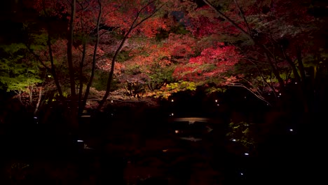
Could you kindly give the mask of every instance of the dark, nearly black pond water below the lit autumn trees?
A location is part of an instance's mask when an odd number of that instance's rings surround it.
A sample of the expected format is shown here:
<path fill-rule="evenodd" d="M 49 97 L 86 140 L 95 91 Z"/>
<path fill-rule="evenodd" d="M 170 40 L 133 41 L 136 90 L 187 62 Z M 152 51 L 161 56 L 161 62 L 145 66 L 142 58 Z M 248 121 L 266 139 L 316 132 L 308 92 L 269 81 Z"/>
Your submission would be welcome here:
<path fill-rule="evenodd" d="M 195 116 L 203 116 L 194 112 Z M 172 118 L 190 113 L 173 116 L 170 113 L 171 110 L 158 107 L 109 109 L 106 114 L 81 119 L 76 136 L 62 130 L 62 123 L 56 126 L 35 123 L 32 127 L 20 124 L 22 128 L 11 128 L 1 135 L 4 149 L 1 181 L 4 184 L 214 185 L 280 181 L 294 184 L 300 181 L 300 174 L 309 175 L 303 167 L 311 164 L 309 160 L 301 163 L 298 159 L 309 158 L 310 153 L 303 151 L 301 128 L 289 117 L 281 116 L 284 114 L 252 119 L 245 115 L 256 112 L 207 114 L 215 125 L 202 140 L 195 140 L 196 137 L 175 137 L 175 131 L 180 133 L 184 128 L 169 124 Z M 226 136 L 231 132 L 229 123 L 242 120 L 259 125 L 256 127 L 259 135 L 252 137 L 263 140 L 253 151 L 240 144 L 247 141 L 245 135 L 232 139 Z"/>

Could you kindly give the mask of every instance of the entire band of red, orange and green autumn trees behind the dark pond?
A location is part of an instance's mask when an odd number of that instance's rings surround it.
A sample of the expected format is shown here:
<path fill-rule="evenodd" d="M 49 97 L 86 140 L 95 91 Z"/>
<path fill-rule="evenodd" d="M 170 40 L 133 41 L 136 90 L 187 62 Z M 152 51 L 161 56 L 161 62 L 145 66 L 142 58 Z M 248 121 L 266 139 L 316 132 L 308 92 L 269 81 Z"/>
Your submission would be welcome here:
<path fill-rule="evenodd" d="M 6 7 L 1 89 L 35 114 L 53 100 L 69 100 L 78 116 L 102 109 L 111 95 L 158 99 L 231 86 L 295 111 L 327 102 L 323 1 L 34 0 Z"/>

